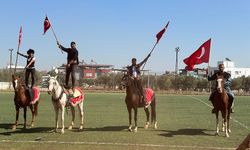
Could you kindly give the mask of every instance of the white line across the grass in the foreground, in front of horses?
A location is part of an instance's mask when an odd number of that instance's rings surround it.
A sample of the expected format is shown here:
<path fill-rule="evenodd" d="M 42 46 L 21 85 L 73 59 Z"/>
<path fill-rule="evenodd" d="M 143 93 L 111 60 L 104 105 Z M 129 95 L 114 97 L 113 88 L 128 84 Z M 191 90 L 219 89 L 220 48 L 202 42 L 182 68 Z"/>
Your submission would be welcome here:
<path fill-rule="evenodd" d="M 71 145 L 111 145 L 111 146 L 139 146 L 139 147 L 165 147 L 180 149 L 214 149 L 214 150 L 234 150 L 235 148 L 203 147 L 203 146 L 180 146 L 180 145 L 161 145 L 161 144 L 131 144 L 131 143 L 111 143 L 111 142 L 60 142 L 60 141 L 11 141 L 1 140 L 0 143 L 34 143 L 34 144 L 71 144 Z"/>

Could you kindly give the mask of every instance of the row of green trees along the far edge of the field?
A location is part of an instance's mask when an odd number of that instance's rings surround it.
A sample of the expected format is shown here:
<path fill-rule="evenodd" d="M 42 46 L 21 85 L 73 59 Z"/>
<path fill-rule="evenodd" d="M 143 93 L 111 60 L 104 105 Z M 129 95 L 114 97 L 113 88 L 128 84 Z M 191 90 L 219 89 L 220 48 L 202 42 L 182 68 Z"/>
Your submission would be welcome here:
<path fill-rule="evenodd" d="M 23 77 L 23 72 L 17 72 Z M 42 85 L 43 75 L 55 75 L 51 72 L 36 71 L 36 84 Z M 78 81 L 79 86 L 100 87 L 103 89 L 117 89 L 120 86 L 123 73 L 105 73 L 99 75 L 95 79 L 82 79 Z M 63 84 L 65 77 L 59 75 L 58 80 Z M 11 73 L 8 69 L 0 69 L 0 82 L 10 82 Z M 143 75 L 143 87 L 151 87 L 154 90 L 183 90 L 183 91 L 209 91 L 210 87 L 214 87 L 215 82 L 209 82 L 206 78 L 196 78 L 192 76 L 176 76 L 172 74 L 163 75 Z M 232 80 L 232 90 L 250 91 L 250 76 L 239 77 Z"/>

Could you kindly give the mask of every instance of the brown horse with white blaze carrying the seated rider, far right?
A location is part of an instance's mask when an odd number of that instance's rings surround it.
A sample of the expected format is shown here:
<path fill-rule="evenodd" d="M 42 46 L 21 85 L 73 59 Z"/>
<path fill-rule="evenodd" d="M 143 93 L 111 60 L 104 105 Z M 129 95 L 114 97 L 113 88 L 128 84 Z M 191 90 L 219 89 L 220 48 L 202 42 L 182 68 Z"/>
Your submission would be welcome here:
<path fill-rule="evenodd" d="M 219 135 L 219 111 L 221 111 L 223 117 L 222 131 L 225 131 L 225 136 L 229 137 L 231 132 L 229 128 L 229 119 L 230 119 L 230 104 L 227 92 L 224 89 L 224 77 L 223 75 L 217 76 L 217 90 L 215 91 L 214 99 L 212 100 L 215 115 L 216 115 L 216 133 Z"/>

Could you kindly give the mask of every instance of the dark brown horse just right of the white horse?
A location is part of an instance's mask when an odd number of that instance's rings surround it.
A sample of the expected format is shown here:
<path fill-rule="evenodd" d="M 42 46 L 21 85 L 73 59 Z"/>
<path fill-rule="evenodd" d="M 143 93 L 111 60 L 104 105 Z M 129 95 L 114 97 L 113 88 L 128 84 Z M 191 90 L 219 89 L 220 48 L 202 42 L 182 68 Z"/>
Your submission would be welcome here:
<path fill-rule="evenodd" d="M 125 102 L 127 105 L 127 110 L 129 113 L 129 131 L 132 131 L 132 123 L 131 123 L 131 119 L 132 119 L 132 109 L 134 110 L 134 121 L 135 121 L 135 128 L 134 128 L 134 132 L 137 132 L 137 108 L 138 107 L 144 107 L 144 110 L 146 112 L 146 117 L 147 117 L 147 121 L 146 121 L 146 125 L 145 125 L 145 129 L 147 129 L 149 127 L 149 116 L 150 116 L 150 112 L 148 107 L 145 107 L 143 105 L 140 105 L 139 100 L 140 100 L 140 96 L 138 93 L 138 90 L 136 88 L 135 85 L 135 81 L 134 79 L 127 75 L 124 74 L 123 78 L 122 78 L 122 87 L 126 87 L 126 98 L 125 98 Z M 152 97 L 151 97 L 151 123 L 154 124 L 154 128 L 157 128 L 157 122 L 156 122 L 156 98 L 155 98 L 155 94 L 153 93 Z"/>

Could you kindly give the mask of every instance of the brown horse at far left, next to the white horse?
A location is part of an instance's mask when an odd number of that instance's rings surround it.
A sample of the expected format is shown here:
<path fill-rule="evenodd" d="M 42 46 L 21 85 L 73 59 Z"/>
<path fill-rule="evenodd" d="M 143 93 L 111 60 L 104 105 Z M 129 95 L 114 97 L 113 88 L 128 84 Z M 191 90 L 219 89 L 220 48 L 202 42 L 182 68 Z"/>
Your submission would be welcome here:
<path fill-rule="evenodd" d="M 15 75 L 12 75 L 12 84 L 15 92 L 14 103 L 16 107 L 16 121 L 15 124 L 12 126 L 12 129 L 15 130 L 18 125 L 18 118 L 19 118 L 19 109 L 23 108 L 24 113 L 24 126 L 23 128 L 26 129 L 26 112 L 27 107 L 29 106 L 32 112 L 32 121 L 31 127 L 34 126 L 35 116 L 37 115 L 38 111 L 38 101 L 34 104 L 31 104 L 31 98 L 29 96 L 29 91 L 25 88 L 25 85 L 22 83 L 21 78 Z"/>

